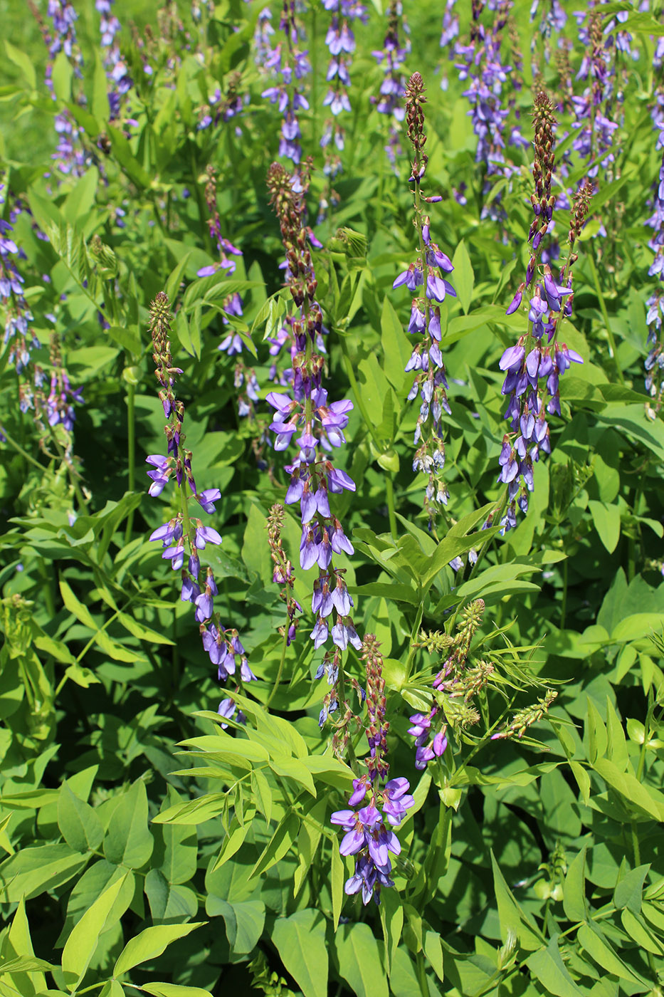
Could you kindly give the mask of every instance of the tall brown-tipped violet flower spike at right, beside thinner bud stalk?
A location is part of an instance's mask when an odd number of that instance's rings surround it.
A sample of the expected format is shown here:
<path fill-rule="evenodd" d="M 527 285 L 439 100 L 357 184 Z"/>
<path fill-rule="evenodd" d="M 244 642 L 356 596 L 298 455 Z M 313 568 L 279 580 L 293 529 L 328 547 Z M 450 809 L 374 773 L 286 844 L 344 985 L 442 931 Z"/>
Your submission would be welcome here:
<path fill-rule="evenodd" d="M 542 279 L 535 279 L 539 278 L 541 240 L 551 224 L 555 204 L 555 195 L 551 193 L 551 174 L 554 164 L 553 130 L 556 122 L 551 102 L 543 93 L 539 93 L 535 98 L 533 119 L 534 192 L 530 200 L 534 218 L 528 232 L 528 241 L 531 244 L 530 258 L 525 282 L 518 287 L 506 311 L 507 315 L 516 311 L 521 304 L 524 291 L 530 288 L 534 280 L 528 304 L 528 321 L 531 325 L 527 336 L 520 336 L 515 346 L 506 349 L 498 364 L 500 370 L 505 373 L 502 394 L 508 396 L 509 402 L 504 418 L 509 420 L 511 431 L 502 439 L 498 458 L 500 465 L 498 482 L 507 486 L 507 508 L 501 520 L 501 525 L 505 529 L 516 524 L 516 503 L 523 513 L 527 511 L 527 493 L 533 489 L 533 463 L 539 460 L 540 453 L 550 453 L 546 413 L 560 415 L 559 378 L 570 364 L 583 362 L 574 350 L 568 349 L 564 344 L 558 347 L 555 342 L 560 314 L 571 314 L 571 274 L 567 275 L 563 284 L 562 279 L 559 281 L 554 279 L 550 267 L 544 264 Z M 587 197 L 585 193 L 583 195 L 584 210 L 587 210 L 589 199 L 589 191 L 587 193 Z M 584 217 L 583 213 L 581 227 Z M 565 298 L 568 300 L 565 301 Z M 542 342 L 544 335 L 547 337 L 545 345 Z M 545 384 L 549 397 L 545 410 L 540 395 L 540 381 Z"/>

